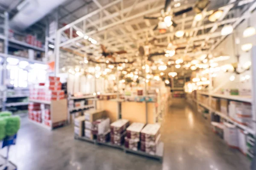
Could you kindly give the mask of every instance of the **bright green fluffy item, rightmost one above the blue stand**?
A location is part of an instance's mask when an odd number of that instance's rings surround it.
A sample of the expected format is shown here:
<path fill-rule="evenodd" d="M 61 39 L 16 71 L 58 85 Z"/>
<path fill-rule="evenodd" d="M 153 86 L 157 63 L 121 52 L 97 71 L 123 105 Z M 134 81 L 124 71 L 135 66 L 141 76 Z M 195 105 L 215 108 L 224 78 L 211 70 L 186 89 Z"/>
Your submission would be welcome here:
<path fill-rule="evenodd" d="M 6 136 L 15 135 L 20 129 L 20 116 L 6 117 Z"/>

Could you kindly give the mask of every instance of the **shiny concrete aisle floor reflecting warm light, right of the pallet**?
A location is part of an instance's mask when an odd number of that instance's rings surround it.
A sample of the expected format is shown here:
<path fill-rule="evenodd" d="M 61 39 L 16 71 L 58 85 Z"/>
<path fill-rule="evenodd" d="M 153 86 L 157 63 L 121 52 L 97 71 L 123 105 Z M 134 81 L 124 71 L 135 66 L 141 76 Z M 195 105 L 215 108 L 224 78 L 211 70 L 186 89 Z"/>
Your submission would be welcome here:
<path fill-rule="evenodd" d="M 174 103 L 163 125 L 163 170 L 249 170 L 250 161 L 210 129 L 209 120 L 184 101 Z"/>

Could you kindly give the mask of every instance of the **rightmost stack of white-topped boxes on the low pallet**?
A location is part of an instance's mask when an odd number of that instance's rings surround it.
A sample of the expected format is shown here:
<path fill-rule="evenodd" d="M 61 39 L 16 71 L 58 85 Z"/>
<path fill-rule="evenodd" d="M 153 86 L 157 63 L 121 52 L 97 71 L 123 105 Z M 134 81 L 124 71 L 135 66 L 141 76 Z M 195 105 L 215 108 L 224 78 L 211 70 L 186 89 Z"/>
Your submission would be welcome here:
<path fill-rule="evenodd" d="M 157 153 L 157 145 L 160 142 L 160 125 L 148 124 L 141 130 L 140 150 L 155 155 Z"/>

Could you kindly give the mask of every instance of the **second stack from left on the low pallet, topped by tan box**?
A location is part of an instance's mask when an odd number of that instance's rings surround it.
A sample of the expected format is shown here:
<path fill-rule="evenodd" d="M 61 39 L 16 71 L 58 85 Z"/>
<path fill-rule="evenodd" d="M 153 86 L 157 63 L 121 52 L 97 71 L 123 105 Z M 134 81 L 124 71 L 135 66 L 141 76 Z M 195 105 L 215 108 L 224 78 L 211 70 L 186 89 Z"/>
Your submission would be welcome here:
<path fill-rule="evenodd" d="M 102 118 L 105 117 L 105 111 L 104 110 L 87 110 L 84 111 L 84 125 L 85 130 L 84 134 L 85 137 L 89 139 L 95 139 L 98 134 L 98 131 L 94 131 L 95 134 L 93 134 L 93 128 L 96 128 L 96 124 L 102 121 Z M 96 126 L 96 127 L 95 127 Z"/>

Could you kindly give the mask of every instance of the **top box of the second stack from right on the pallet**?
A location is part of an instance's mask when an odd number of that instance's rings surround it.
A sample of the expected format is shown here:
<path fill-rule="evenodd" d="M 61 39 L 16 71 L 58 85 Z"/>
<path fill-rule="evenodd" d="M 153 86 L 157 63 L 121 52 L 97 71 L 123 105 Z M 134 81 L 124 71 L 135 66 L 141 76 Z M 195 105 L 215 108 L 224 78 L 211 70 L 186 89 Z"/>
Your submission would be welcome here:
<path fill-rule="evenodd" d="M 128 139 L 138 139 L 140 140 L 140 132 L 145 126 L 144 123 L 132 123 L 126 129 L 126 137 Z"/>

